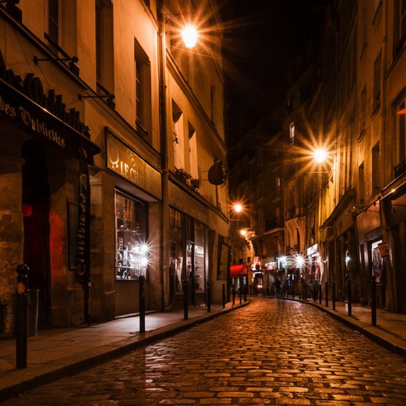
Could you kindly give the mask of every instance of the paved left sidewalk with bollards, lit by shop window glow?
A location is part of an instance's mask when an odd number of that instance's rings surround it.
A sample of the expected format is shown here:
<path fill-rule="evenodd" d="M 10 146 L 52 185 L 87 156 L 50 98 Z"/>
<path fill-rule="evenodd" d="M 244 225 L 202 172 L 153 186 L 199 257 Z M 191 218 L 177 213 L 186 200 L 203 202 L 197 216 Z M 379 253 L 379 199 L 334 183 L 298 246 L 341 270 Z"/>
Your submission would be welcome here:
<path fill-rule="evenodd" d="M 139 316 L 133 315 L 81 328 L 44 330 L 28 337 L 27 368 L 17 369 L 15 337 L 0 340 L 0 403 L 40 384 L 45 384 L 122 355 L 129 350 L 151 344 L 203 323 L 216 316 L 248 305 L 249 300 L 189 307 L 184 311 L 148 312 L 146 332 L 139 332 Z"/>

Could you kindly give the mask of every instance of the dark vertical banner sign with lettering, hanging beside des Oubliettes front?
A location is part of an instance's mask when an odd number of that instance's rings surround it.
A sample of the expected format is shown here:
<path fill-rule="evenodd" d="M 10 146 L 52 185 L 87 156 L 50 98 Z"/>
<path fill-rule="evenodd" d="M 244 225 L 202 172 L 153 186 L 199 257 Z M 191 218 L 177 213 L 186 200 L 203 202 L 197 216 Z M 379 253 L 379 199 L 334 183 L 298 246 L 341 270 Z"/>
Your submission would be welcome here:
<path fill-rule="evenodd" d="M 78 277 L 90 281 L 90 180 L 86 153 L 79 150 Z"/>

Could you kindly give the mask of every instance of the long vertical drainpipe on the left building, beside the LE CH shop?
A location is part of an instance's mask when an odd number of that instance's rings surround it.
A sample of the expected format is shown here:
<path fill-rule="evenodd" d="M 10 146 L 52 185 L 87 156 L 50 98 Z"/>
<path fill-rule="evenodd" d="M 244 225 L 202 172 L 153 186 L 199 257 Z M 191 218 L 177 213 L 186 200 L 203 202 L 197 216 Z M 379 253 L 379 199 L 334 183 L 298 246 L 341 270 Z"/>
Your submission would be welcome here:
<path fill-rule="evenodd" d="M 168 142 L 167 142 L 167 85 L 165 81 L 166 43 L 165 43 L 165 13 L 164 0 L 158 1 L 158 74 L 160 93 L 160 137 L 162 157 L 162 232 L 160 246 L 160 284 L 162 286 L 162 311 L 171 310 L 169 297 L 169 171 L 168 171 Z"/>

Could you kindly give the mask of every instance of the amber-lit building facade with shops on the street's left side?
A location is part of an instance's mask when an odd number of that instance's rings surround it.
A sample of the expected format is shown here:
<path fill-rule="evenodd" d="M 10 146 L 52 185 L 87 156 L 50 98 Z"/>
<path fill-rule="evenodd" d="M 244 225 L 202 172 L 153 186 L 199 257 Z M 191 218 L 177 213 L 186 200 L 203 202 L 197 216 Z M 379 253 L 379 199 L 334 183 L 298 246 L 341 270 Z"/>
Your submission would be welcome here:
<path fill-rule="evenodd" d="M 176 38 L 186 15 L 218 27 L 214 4 L 35 3 L 0 6 L 0 331 L 13 331 L 19 264 L 40 327 L 137 312 L 140 276 L 147 309 L 171 310 L 180 280 L 190 303 L 208 282 L 221 301 L 221 53 Z"/>

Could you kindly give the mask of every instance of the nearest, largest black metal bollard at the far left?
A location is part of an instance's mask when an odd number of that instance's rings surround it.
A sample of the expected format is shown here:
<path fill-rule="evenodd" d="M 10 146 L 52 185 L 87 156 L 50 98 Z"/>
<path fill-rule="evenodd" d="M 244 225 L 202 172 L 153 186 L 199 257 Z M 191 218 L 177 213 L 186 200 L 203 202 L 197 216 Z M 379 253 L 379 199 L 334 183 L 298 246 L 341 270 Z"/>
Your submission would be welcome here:
<path fill-rule="evenodd" d="M 15 291 L 15 367 L 27 367 L 27 285 L 28 285 L 28 271 L 30 269 L 26 264 L 20 264 L 17 267 L 17 288 Z"/>

